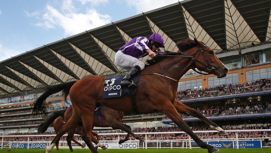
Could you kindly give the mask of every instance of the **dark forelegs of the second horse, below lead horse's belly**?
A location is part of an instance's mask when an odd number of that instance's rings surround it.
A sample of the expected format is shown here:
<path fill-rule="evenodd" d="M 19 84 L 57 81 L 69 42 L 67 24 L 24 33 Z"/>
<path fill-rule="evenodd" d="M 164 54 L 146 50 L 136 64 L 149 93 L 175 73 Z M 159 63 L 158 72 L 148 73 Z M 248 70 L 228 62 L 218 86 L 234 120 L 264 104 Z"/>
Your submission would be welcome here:
<path fill-rule="evenodd" d="M 143 140 L 141 137 L 139 137 L 138 135 L 134 134 L 134 133 L 132 132 L 132 130 L 131 130 L 131 127 L 128 126 L 128 125 L 122 124 L 122 123 L 120 123 L 120 122 L 118 122 L 118 121 L 113 121 L 112 124 L 110 124 L 110 126 L 111 126 L 113 129 L 121 129 L 121 130 L 127 132 L 127 135 L 126 135 L 125 139 L 122 140 L 122 141 L 120 140 L 120 141 L 118 142 L 119 144 L 121 144 L 121 143 L 123 143 L 123 142 L 125 142 L 125 141 L 127 141 L 127 140 L 129 139 L 129 136 L 130 136 L 129 133 L 130 133 L 134 138 L 138 139 L 140 143 L 145 142 L 145 140 Z M 126 140 L 126 139 L 127 139 L 127 140 Z"/>

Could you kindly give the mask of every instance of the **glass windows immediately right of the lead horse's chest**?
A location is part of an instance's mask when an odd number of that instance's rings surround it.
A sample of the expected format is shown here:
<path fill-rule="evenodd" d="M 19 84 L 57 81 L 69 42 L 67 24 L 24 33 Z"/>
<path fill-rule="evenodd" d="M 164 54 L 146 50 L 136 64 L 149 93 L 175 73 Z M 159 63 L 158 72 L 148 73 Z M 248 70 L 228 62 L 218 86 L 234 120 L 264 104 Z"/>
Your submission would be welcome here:
<path fill-rule="evenodd" d="M 181 81 L 178 85 L 178 91 L 190 90 L 190 89 L 202 89 L 202 79 Z"/>

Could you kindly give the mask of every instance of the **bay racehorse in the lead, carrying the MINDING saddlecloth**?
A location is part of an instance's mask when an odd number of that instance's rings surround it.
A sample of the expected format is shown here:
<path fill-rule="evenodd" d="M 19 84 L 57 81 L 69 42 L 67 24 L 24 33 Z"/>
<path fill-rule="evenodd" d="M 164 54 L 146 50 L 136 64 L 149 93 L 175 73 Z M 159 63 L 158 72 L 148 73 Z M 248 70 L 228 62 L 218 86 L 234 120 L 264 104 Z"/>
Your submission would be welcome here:
<path fill-rule="evenodd" d="M 167 115 L 176 125 L 192 137 L 201 148 L 208 149 L 208 152 L 217 152 L 219 149 L 205 144 L 190 129 L 180 117 L 178 112 L 190 114 L 206 122 L 212 129 L 219 131 L 219 134 L 227 134 L 217 124 L 208 120 L 200 112 L 176 100 L 178 80 L 189 70 L 197 68 L 209 74 L 215 74 L 218 78 L 225 77 L 228 69 L 217 58 L 214 51 L 201 41 L 196 39 L 185 39 L 177 42 L 180 51 L 169 52 L 163 56 L 156 56 L 148 60 L 141 72 L 136 93 L 136 106 L 138 113 L 147 114 L 162 112 Z M 182 52 L 181 52 L 182 51 Z M 184 56 L 181 56 L 184 55 Z M 180 58 L 187 57 L 187 58 Z M 192 59 L 191 59 L 192 58 Z M 83 122 L 83 135 L 85 142 L 92 152 L 98 152 L 91 143 L 91 128 L 96 104 L 100 104 L 115 110 L 134 112 L 131 99 L 128 96 L 117 98 L 103 98 L 104 76 L 87 76 L 77 81 L 70 89 L 70 100 L 73 104 L 73 115 L 69 121 L 61 127 L 51 144 L 46 148 L 50 152 L 56 142 L 65 132 L 75 127 L 79 121 Z M 44 111 L 42 102 L 35 102 L 34 112 Z"/>

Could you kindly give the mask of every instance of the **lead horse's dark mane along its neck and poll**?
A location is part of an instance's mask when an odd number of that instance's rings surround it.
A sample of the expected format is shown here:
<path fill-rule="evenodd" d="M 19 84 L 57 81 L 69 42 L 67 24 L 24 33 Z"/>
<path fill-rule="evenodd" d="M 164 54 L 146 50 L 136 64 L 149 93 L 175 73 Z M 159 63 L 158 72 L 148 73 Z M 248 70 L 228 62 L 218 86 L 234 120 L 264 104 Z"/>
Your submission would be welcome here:
<path fill-rule="evenodd" d="M 181 39 L 180 41 L 178 41 L 176 43 L 176 46 L 178 47 L 178 49 L 180 51 L 186 51 L 190 48 L 196 47 L 197 44 L 195 43 L 194 40 L 190 39 L 190 38 L 186 38 L 186 39 Z M 172 55 L 172 56 L 178 56 L 180 55 L 180 53 L 178 52 L 171 52 L 171 51 L 165 51 L 165 53 L 163 55 Z M 165 59 L 166 57 L 163 56 L 155 56 L 152 59 L 149 59 L 146 61 L 146 66 L 151 66 L 163 59 Z"/>

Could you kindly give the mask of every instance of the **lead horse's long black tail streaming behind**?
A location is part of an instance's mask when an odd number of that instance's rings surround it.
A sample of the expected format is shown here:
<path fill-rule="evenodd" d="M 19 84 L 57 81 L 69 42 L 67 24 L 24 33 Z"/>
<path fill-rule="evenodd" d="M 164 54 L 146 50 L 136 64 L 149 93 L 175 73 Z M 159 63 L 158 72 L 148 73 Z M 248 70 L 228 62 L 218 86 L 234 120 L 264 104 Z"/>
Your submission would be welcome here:
<path fill-rule="evenodd" d="M 71 89 L 71 87 L 76 83 L 77 81 L 71 81 L 71 82 L 67 82 L 67 83 L 63 83 L 60 85 L 55 85 L 52 87 L 45 87 L 44 89 L 46 90 L 42 95 L 40 95 L 40 97 L 34 101 L 34 103 L 32 104 L 33 107 L 33 111 L 32 113 L 47 113 L 46 107 L 44 107 L 42 104 L 43 102 L 46 100 L 47 97 L 49 97 L 50 95 L 57 93 L 59 91 L 63 90 L 63 94 L 65 95 L 65 101 L 67 99 L 67 96 L 69 94 L 69 91 Z"/>

